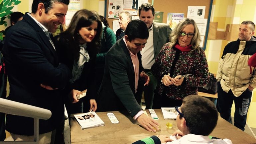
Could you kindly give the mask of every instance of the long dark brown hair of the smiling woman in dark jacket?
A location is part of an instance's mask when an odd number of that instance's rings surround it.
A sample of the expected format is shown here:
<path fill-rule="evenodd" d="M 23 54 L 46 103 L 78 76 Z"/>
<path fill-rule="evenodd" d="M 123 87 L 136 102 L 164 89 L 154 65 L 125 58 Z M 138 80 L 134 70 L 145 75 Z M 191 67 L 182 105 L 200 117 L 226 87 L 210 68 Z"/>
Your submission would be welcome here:
<path fill-rule="evenodd" d="M 71 19 L 71 22 L 61 35 L 69 35 L 70 39 L 67 39 L 67 41 L 74 41 L 75 45 L 79 45 L 79 40 L 81 39 L 81 36 L 79 34 L 79 30 L 83 27 L 89 27 L 94 22 L 98 23 L 97 26 L 97 33 L 94 36 L 93 40 L 91 42 L 87 43 L 87 50 L 93 51 L 93 53 L 97 52 L 97 49 L 100 47 L 100 38 L 101 38 L 101 31 L 102 31 L 102 24 L 100 21 L 100 18 L 98 15 L 92 13 L 89 10 L 81 9 L 77 11 L 74 16 Z M 71 39 L 72 38 L 72 39 Z M 74 48 L 74 54 L 75 59 L 78 58 L 80 47 L 77 46 Z"/>

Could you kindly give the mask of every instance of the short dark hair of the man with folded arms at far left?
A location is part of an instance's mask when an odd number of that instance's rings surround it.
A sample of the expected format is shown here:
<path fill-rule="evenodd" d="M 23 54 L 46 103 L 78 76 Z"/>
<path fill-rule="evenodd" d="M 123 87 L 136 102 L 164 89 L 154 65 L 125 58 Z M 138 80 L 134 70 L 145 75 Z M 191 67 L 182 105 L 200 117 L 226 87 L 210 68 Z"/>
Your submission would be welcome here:
<path fill-rule="evenodd" d="M 48 11 L 50 9 L 52 9 L 53 7 L 53 3 L 56 3 L 56 2 L 59 2 L 59 3 L 64 3 L 66 5 L 69 4 L 69 0 L 33 0 L 33 3 L 32 3 L 32 13 L 36 13 L 37 12 L 37 7 L 38 7 L 38 4 L 39 3 L 43 3 L 44 6 L 45 6 L 45 13 L 48 13 Z"/>

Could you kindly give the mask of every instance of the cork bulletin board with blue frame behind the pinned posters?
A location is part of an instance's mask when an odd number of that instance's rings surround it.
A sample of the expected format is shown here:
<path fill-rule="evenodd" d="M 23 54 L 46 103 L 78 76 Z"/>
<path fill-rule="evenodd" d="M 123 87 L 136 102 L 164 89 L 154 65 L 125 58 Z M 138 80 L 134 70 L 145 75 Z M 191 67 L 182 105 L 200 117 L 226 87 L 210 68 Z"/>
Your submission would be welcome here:
<path fill-rule="evenodd" d="M 207 19 L 206 33 L 203 40 L 204 41 L 203 49 L 205 49 L 208 29 L 209 29 L 208 27 L 210 22 L 212 1 L 213 0 L 153 0 L 153 5 L 155 8 L 155 11 L 164 12 L 163 23 L 167 22 L 168 13 L 184 13 L 184 17 L 187 18 L 188 6 L 205 6 L 204 18 Z M 148 0 L 148 2 L 152 3 L 152 0 Z M 105 1 L 105 17 L 106 18 L 107 18 L 107 12 L 108 12 L 108 0 Z M 139 16 L 139 12 L 138 12 L 138 16 Z M 117 20 L 117 19 L 107 18 L 107 20 L 110 28 L 112 29 L 112 22 L 113 20 Z"/>

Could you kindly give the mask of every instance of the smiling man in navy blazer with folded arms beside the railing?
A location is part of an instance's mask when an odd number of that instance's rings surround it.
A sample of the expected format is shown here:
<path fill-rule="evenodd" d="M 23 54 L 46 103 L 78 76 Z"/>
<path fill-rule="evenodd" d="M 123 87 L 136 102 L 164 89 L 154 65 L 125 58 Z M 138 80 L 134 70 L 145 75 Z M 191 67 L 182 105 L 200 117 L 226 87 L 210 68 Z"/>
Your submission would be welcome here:
<path fill-rule="evenodd" d="M 52 36 L 58 25 L 64 24 L 68 4 L 69 0 L 34 0 L 32 13 L 26 13 L 8 30 L 3 47 L 10 83 L 8 99 L 51 110 L 50 119 L 39 120 L 39 139 L 50 135 L 50 141 L 55 130 L 63 126 L 64 98 L 60 91 L 71 78 L 68 67 L 59 63 Z M 33 140 L 33 125 L 32 118 L 6 116 L 6 130 L 12 138 L 28 140 L 31 136 Z"/>

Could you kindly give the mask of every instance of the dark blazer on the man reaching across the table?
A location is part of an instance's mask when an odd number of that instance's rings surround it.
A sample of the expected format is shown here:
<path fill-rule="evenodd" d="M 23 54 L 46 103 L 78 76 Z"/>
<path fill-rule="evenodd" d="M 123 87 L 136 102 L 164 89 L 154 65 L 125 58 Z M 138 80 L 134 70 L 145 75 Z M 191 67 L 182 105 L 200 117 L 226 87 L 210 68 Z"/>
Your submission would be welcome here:
<path fill-rule="evenodd" d="M 139 73 L 143 70 L 141 54 Z M 144 82 L 145 83 L 145 82 Z M 143 80 L 139 79 L 135 94 L 135 75 L 132 59 L 123 39 L 119 39 L 106 55 L 105 72 L 97 98 L 98 111 L 120 111 L 127 109 L 131 116 L 136 115 L 141 106 L 138 104 Z"/>

